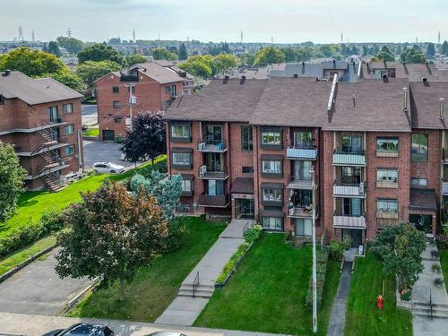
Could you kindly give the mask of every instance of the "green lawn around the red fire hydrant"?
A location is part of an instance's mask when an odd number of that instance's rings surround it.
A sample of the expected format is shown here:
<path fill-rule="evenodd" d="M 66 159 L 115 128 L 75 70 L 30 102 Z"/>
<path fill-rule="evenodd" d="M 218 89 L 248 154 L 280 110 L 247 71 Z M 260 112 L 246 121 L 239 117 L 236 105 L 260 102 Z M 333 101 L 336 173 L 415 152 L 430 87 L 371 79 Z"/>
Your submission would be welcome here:
<path fill-rule="evenodd" d="M 395 306 L 395 281 L 388 277 L 384 289 L 384 309 L 376 308 L 376 297 L 382 293 L 381 264 L 369 254 L 358 258 L 351 278 L 345 316 L 345 336 L 412 335 L 412 315 Z"/>

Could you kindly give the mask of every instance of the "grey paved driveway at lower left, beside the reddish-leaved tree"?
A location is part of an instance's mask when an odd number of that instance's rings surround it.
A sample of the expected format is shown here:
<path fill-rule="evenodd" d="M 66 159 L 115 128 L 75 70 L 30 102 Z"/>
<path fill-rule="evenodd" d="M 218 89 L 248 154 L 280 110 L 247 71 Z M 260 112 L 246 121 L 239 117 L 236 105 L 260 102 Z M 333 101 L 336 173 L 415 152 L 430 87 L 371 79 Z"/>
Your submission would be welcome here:
<path fill-rule="evenodd" d="M 0 284 L 0 312 L 56 315 L 90 285 L 87 279 L 59 279 L 54 268 L 56 251 Z"/>

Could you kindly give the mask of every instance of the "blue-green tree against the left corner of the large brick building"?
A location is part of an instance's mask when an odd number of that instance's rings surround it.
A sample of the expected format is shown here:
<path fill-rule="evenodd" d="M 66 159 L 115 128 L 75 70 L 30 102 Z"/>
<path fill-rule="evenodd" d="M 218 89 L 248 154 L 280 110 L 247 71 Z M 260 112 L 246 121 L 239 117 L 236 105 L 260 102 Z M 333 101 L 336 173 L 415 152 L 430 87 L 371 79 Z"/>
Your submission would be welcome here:
<path fill-rule="evenodd" d="M 135 174 L 129 181 L 129 189 L 134 196 L 139 194 L 142 189 L 146 194 L 154 195 L 165 213 L 165 218 L 173 220 L 173 210 L 180 204 L 182 177 L 179 174 L 168 177 L 167 174 L 151 170 L 148 177 Z"/>

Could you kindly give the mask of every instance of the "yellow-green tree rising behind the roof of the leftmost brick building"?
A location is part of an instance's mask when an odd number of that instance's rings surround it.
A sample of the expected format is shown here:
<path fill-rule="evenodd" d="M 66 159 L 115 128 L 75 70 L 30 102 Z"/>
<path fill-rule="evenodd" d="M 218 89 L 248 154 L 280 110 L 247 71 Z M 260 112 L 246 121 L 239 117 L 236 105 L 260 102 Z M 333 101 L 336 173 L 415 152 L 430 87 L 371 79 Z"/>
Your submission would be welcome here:
<path fill-rule="evenodd" d="M 31 77 L 60 73 L 68 67 L 56 56 L 28 47 L 19 47 L 0 57 L 0 71 L 20 71 Z"/>

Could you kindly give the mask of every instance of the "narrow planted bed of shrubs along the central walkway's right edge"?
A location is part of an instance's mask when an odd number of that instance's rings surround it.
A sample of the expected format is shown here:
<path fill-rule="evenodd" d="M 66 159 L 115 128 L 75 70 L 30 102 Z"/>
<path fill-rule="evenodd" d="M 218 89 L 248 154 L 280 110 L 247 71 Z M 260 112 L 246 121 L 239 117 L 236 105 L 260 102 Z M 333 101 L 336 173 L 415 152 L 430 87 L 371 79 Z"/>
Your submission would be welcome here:
<path fill-rule="evenodd" d="M 222 269 L 220 276 L 215 281 L 215 287 L 223 287 L 234 271 L 237 270 L 239 263 L 244 259 L 247 251 L 254 245 L 258 238 L 262 235 L 263 227 L 255 224 L 252 228 L 248 228 L 245 232 L 245 242 L 238 246 L 237 252 L 230 257 L 230 260 Z"/>

